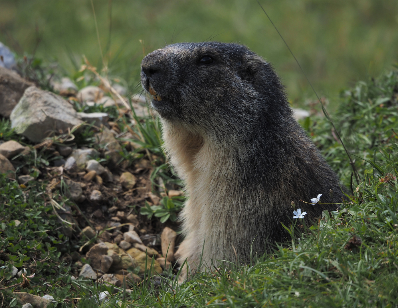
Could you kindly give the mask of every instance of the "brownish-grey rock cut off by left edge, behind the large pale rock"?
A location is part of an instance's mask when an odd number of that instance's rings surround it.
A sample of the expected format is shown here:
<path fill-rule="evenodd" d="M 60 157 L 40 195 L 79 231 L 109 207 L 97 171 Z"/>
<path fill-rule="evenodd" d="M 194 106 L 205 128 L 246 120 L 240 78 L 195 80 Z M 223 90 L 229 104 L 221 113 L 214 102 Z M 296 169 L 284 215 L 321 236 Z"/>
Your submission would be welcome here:
<path fill-rule="evenodd" d="M 0 61 L 0 115 L 8 118 L 23 92 L 33 83 L 21 78 L 16 72 L 1 67 L 1 63 Z"/>

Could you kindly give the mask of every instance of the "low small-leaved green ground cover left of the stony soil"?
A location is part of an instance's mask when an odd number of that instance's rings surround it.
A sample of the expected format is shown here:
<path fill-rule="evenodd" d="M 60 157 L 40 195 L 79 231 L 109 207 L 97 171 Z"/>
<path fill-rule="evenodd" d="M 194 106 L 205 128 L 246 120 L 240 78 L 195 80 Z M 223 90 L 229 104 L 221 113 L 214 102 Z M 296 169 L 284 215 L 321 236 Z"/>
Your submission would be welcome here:
<path fill-rule="evenodd" d="M 64 225 L 45 196 L 45 186 L 38 182 L 31 181 L 22 189 L 16 181 L 0 175 L 0 277 L 8 281 L 13 266 L 25 268 L 27 275 L 36 274 L 31 286 L 21 292 L 46 292 L 62 298 L 70 295 L 71 286 L 65 282 L 70 277 L 70 264 L 60 258 L 70 244 L 62 232 Z M 57 285 L 63 287 L 58 289 Z"/>

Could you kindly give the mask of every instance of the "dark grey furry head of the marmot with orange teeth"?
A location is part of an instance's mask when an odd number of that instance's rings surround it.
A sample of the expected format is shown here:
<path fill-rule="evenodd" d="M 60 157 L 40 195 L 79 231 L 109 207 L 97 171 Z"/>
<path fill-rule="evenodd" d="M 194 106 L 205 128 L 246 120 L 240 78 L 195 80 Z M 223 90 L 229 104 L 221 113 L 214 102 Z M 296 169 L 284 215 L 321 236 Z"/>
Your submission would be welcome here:
<path fill-rule="evenodd" d="M 144 57 L 141 83 L 162 118 L 194 130 L 230 131 L 264 116 L 275 120 L 281 109 L 290 114 L 271 65 L 243 45 L 168 45 Z"/>

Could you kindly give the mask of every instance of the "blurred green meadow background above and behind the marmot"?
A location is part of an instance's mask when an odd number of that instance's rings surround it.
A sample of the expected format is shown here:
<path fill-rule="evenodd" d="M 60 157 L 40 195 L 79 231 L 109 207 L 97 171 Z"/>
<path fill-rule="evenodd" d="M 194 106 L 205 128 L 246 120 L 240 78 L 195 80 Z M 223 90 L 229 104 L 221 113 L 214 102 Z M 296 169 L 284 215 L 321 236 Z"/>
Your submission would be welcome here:
<path fill-rule="evenodd" d="M 273 63 L 293 105 L 313 99 L 256 0 L 93 0 L 111 74 L 139 82 L 144 54 L 181 41 L 238 42 Z M 397 0 L 260 0 L 330 108 L 339 90 L 398 60 Z M 142 43 L 140 43 L 140 40 Z M 101 68 L 90 0 L 0 0 L 0 41 L 57 60 L 72 74 L 86 55 Z"/>

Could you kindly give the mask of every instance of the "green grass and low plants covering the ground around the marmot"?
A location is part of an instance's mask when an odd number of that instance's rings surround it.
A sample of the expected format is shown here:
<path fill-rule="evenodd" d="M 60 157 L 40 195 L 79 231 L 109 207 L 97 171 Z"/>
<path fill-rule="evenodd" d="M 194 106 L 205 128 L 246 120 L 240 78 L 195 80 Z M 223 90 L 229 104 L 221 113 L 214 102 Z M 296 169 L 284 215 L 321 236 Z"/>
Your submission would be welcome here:
<path fill-rule="evenodd" d="M 68 258 L 62 257 L 84 242 L 65 237 L 64 225 L 57 220 L 45 192 L 46 182 L 31 181 L 26 188 L 21 188 L 2 176 L 0 280 L 4 277 L 2 284 L 6 286 L 21 282 L 21 278 L 7 281 L 13 264 L 27 268 L 28 274 L 35 271 L 31 286 L 24 291 L 51 294 L 58 300 L 52 304 L 56 307 L 113 307 L 118 300 L 122 307 L 396 307 L 397 107 L 397 70 L 358 82 L 341 93 L 340 107 L 332 118 L 355 158 L 358 183 L 355 176 L 351 176 L 348 158 L 334 138 L 330 123 L 324 117 L 315 116 L 302 121 L 342 182 L 352 187 L 349 201 L 341 205 L 339 211 L 325 211 L 317 224 L 311 225 L 305 217 L 296 220 L 291 228 L 294 227 L 297 236 L 289 245 L 275 247 L 268 255 L 253 254 L 250 264 L 225 262 L 219 269 L 196 273 L 182 285 L 175 283 L 172 273 L 166 273 L 158 286 L 145 276 L 144 282 L 131 292 L 72 280 L 76 269 Z M 122 127 L 127 120 L 119 118 L 117 123 Z M 165 167 L 159 148 L 158 124 L 150 119 L 140 122 L 142 144 L 158 156 L 155 162 L 158 173 L 154 173 L 152 179 L 162 176 L 168 183 L 169 177 L 169 183 L 173 183 L 176 180 L 172 170 Z M 3 121 L 1 125 L 0 133 L 8 136 L 5 138 L 14 137 L 8 122 Z M 81 135 L 84 135 L 81 142 L 90 142 L 90 131 Z M 52 159 L 46 153 L 32 149 L 21 164 L 45 166 Z M 135 154 L 132 161 L 141 155 L 138 151 Z M 68 205 L 62 195 L 55 194 L 53 198 L 60 205 L 65 202 Z M 149 215 L 149 209 L 146 210 Z M 159 209 L 150 210 L 156 216 Z M 161 214 L 165 212 L 161 211 L 159 217 L 164 216 Z M 21 224 L 16 226 L 16 220 Z M 2 290 L 4 306 L 18 304 L 15 300 L 12 302 L 10 294 L 15 289 Z M 104 290 L 114 292 L 109 302 L 98 304 L 90 298 L 98 297 Z"/>

